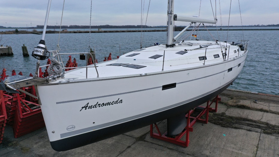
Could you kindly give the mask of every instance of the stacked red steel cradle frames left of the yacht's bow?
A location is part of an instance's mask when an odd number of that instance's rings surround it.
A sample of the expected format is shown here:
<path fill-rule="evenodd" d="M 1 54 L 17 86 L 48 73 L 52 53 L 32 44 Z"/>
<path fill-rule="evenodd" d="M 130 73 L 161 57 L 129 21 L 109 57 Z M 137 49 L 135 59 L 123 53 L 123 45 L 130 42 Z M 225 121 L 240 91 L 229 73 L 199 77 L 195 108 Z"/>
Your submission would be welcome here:
<path fill-rule="evenodd" d="M 20 72 L 19 74 L 22 73 Z M 40 74 L 42 75 L 43 73 L 40 72 Z M 12 75 L 16 75 L 16 72 L 13 71 Z M 4 80 L 5 77 L 7 77 L 6 69 L 3 69 L 0 79 Z M 0 93 L 1 139 L 4 134 L 5 124 L 13 128 L 13 135 L 15 138 L 45 126 L 41 107 L 36 99 L 34 86 L 21 89 L 34 95 L 35 98 L 25 93 L 12 94 L 4 91 Z"/>

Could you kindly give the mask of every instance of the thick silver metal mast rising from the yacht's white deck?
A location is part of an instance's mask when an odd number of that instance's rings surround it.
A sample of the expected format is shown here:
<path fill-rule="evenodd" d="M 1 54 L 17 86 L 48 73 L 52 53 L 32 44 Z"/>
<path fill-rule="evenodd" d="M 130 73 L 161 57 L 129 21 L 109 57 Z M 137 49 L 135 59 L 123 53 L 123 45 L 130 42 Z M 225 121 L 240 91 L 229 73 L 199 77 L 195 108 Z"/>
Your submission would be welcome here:
<path fill-rule="evenodd" d="M 173 47 L 174 43 L 174 0 L 168 0 L 168 28 L 166 47 Z"/>

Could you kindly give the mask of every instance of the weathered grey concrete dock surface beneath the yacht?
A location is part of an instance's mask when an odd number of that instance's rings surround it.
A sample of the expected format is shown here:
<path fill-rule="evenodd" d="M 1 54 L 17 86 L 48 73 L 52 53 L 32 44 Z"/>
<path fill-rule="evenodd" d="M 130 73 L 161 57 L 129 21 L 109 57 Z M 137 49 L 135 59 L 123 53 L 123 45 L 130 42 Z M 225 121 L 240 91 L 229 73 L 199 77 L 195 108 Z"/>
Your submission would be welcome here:
<path fill-rule="evenodd" d="M 225 90 L 219 97 L 218 110 L 209 113 L 209 123 L 194 124 L 188 147 L 151 138 L 150 126 L 146 126 L 83 147 L 57 152 L 50 146 L 45 127 L 14 138 L 12 128 L 6 126 L 0 156 L 279 157 L 279 96 Z M 164 133 L 166 120 L 157 124 Z"/>

